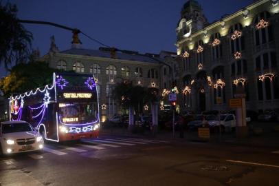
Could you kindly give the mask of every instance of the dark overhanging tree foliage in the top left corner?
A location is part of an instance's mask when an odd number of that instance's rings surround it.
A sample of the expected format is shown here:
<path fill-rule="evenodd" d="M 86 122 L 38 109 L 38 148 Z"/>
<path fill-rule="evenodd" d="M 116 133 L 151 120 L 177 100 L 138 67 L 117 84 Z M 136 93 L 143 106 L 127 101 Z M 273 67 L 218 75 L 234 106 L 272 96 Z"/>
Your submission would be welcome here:
<path fill-rule="evenodd" d="M 8 65 L 24 63 L 30 55 L 32 33 L 25 30 L 16 18 L 16 5 L 0 1 L 0 63 Z"/>

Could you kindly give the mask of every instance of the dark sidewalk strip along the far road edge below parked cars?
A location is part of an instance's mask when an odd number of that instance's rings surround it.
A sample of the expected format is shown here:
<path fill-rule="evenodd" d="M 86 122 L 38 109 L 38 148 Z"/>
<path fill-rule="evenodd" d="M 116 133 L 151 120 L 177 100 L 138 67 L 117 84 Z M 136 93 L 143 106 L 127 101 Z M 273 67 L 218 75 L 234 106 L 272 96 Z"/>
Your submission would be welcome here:
<path fill-rule="evenodd" d="M 102 129 L 100 131 L 100 136 L 110 135 L 110 136 L 128 136 L 135 138 L 157 138 L 157 139 L 169 139 L 169 140 L 179 140 L 179 141 L 192 141 L 192 142 L 205 142 L 205 143 L 225 143 L 230 145 L 242 145 L 249 147 L 278 147 L 279 148 L 279 133 L 270 132 L 261 135 L 252 135 L 245 138 L 236 138 L 235 134 L 221 134 L 221 140 L 219 134 L 211 134 L 210 139 L 199 138 L 197 132 L 184 132 L 184 137 L 179 138 L 179 132 L 175 132 L 175 137 L 171 131 L 159 131 L 156 134 L 153 132 L 145 131 L 140 134 L 133 134 L 129 132 L 126 128 L 109 128 Z"/>

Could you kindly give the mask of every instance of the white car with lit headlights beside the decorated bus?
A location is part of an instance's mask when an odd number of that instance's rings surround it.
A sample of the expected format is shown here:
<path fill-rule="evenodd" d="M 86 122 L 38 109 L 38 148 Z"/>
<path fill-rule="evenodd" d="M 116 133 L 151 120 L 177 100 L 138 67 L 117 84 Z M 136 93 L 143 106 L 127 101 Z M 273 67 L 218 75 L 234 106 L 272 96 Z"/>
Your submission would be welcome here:
<path fill-rule="evenodd" d="M 0 123 L 0 154 L 43 149 L 43 136 L 25 121 Z"/>

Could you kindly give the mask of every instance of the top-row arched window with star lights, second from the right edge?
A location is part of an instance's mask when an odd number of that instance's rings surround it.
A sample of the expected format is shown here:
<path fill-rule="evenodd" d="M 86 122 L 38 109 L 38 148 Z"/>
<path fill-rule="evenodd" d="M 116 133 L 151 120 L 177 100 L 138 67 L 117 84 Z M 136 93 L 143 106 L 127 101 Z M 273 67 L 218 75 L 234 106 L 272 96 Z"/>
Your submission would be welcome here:
<path fill-rule="evenodd" d="M 232 54 L 245 50 L 245 42 L 242 28 L 243 27 L 240 23 L 232 25 L 232 27 L 230 28 L 230 44 Z"/>

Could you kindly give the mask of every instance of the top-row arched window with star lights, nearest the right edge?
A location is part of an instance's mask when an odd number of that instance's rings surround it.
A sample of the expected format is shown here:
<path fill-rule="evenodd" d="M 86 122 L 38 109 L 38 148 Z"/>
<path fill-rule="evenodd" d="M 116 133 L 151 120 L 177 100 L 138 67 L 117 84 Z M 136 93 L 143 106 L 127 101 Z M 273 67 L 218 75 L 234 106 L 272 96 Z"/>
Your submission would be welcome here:
<path fill-rule="evenodd" d="M 269 23 L 269 12 L 261 12 L 255 17 L 255 43 L 262 45 L 274 39 L 272 28 Z"/>

